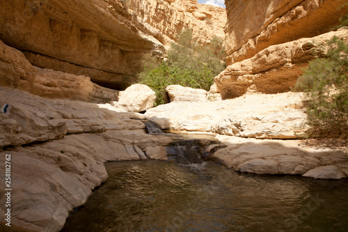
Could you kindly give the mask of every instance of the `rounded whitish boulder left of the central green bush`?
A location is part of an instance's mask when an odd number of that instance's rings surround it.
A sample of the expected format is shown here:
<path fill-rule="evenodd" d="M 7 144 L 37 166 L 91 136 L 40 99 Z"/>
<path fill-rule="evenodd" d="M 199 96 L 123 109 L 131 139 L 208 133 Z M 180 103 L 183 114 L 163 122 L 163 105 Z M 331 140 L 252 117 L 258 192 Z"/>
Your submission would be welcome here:
<path fill-rule="evenodd" d="M 156 93 L 145 84 L 132 84 L 118 95 L 118 102 L 113 105 L 129 112 L 141 112 L 153 107 Z"/>

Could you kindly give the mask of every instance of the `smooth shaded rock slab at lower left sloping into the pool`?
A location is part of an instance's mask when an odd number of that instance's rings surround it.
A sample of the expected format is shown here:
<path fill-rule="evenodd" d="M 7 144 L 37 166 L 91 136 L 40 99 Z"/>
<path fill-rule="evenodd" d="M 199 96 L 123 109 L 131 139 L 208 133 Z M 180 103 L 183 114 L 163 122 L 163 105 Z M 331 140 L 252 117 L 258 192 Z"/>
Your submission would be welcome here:
<path fill-rule="evenodd" d="M 16 199 L 11 207 L 13 224 L 32 231 L 59 231 L 69 211 L 84 204 L 92 190 L 106 180 L 104 162 L 145 160 L 143 150 L 165 150 L 171 142 L 143 130 L 109 130 L 68 134 L 63 139 L 11 149 L 15 164 L 12 197 Z M 0 162 L 4 163 L 8 153 L 0 152 Z M 0 167 L 0 173 L 5 173 L 3 169 Z M 4 205 L 0 206 L 0 212 L 3 209 Z"/>

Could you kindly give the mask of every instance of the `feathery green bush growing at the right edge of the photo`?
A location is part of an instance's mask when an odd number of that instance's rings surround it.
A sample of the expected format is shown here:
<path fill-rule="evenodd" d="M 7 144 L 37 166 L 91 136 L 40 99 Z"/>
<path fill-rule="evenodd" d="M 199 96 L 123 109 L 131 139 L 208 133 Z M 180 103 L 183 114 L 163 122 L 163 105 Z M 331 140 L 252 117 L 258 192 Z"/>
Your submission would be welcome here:
<path fill-rule="evenodd" d="M 296 82 L 306 93 L 311 137 L 348 137 L 348 44 L 337 37 L 328 42 L 325 58 L 310 62 Z"/>

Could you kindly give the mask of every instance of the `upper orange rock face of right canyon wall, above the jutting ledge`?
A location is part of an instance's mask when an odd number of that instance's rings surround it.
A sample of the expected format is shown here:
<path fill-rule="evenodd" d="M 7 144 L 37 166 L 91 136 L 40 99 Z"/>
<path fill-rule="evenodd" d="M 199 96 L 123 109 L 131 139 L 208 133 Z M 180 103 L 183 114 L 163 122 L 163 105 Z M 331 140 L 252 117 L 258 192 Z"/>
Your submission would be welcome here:
<path fill-rule="evenodd" d="M 249 59 L 262 49 L 326 33 L 347 8 L 340 0 L 226 0 L 227 65 Z"/>

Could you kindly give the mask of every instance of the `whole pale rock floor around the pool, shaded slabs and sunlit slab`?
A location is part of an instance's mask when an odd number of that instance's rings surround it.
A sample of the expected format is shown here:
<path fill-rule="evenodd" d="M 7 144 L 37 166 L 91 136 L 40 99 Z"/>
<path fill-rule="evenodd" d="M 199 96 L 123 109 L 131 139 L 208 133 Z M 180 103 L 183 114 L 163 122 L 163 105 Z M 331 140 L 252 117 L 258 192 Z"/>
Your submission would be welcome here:
<path fill-rule="evenodd" d="M 172 102 L 145 115 L 108 104 L 47 100 L 11 88 L 0 88 L 0 95 L 0 105 L 8 105 L 0 113 L 0 153 L 1 163 L 11 155 L 11 223 L 31 231 L 62 229 L 69 212 L 107 180 L 106 162 L 178 160 L 187 142 L 175 145 L 173 135 L 146 134 L 146 118 L 165 130 L 210 134 L 194 136 L 191 155 L 223 164 L 223 169 L 348 176 L 345 150 L 313 148 L 295 139 L 306 127 L 301 98 L 294 93 Z M 0 171 L 4 179 L 4 166 Z M 5 210 L 1 205 L 0 212 Z"/>

